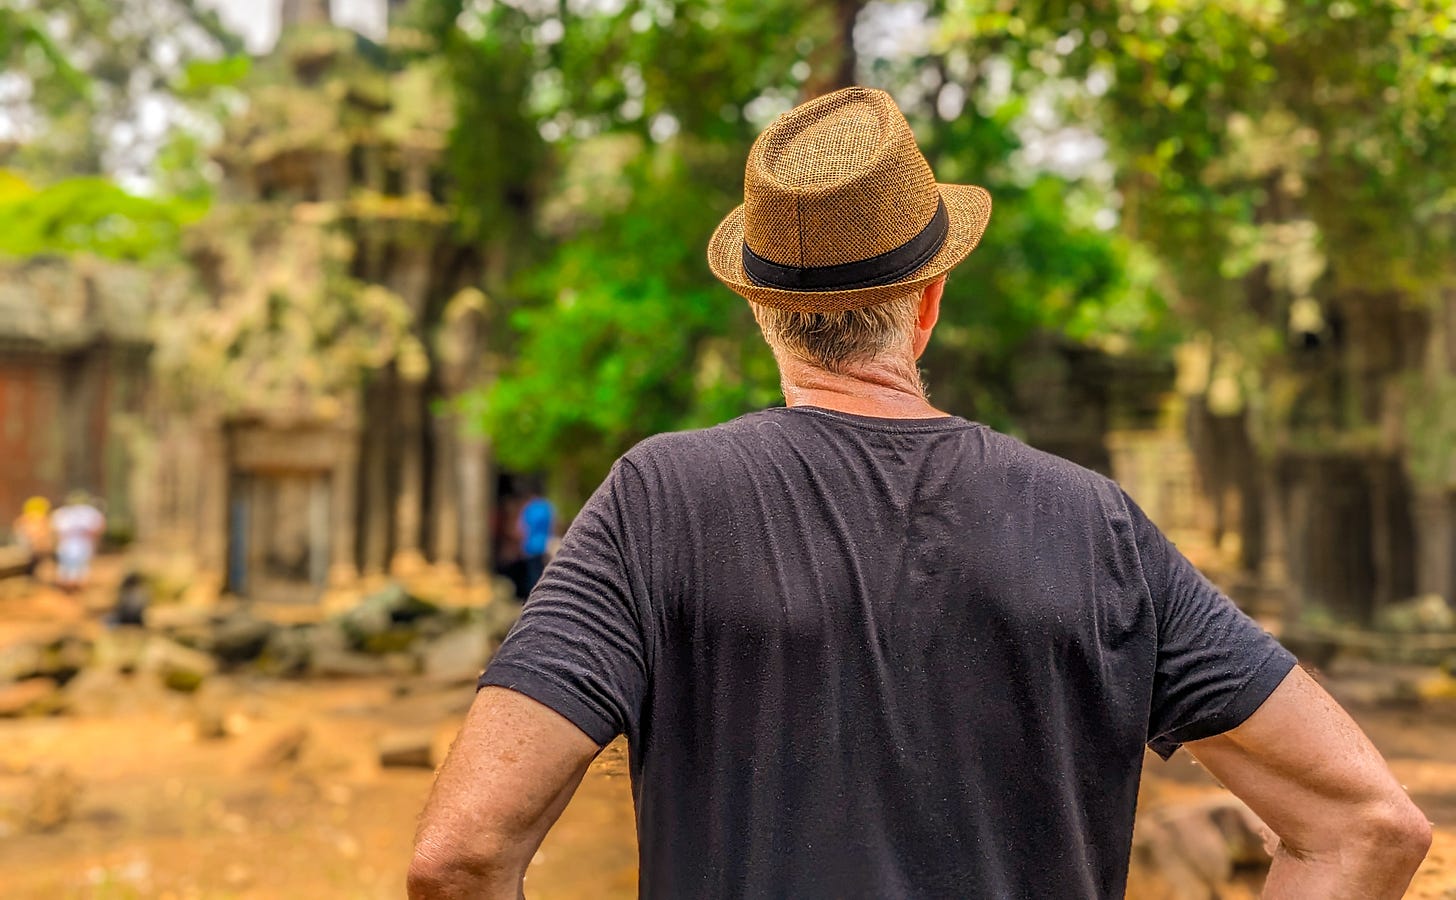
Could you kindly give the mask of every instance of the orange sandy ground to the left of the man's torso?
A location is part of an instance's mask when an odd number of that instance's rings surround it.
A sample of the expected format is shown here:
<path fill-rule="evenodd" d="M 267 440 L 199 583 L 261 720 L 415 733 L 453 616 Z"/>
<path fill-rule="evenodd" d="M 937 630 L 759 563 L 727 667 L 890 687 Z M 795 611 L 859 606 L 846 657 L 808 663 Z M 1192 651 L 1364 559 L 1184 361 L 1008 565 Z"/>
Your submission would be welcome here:
<path fill-rule="evenodd" d="M 376 741 L 421 728 L 448 740 L 469 689 L 396 692 L 373 680 L 217 679 L 194 698 L 156 692 L 116 715 L 0 724 L 0 810 L 25 816 L 38 795 L 73 798 L 61 827 L 12 826 L 0 840 L 0 894 L 403 896 L 432 775 L 381 769 Z M 230 734 L 199 737 L 218 708 Z M 296 757 L 282 759 L 293 746 Z M 635 862 L 626 769 L 613 749 L 542 848 L 529 885 L 533 897 L 626 897 Z"/>

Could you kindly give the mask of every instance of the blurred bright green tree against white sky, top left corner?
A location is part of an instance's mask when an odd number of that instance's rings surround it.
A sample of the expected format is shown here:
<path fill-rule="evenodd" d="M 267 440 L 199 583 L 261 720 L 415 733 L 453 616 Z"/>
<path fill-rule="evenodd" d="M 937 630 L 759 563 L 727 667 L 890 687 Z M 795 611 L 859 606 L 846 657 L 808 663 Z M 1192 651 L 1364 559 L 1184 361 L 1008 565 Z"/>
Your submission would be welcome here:
<path fill-rule="evenodd" d="M 202 138 L 175 121 L 207 121 L 211 90 L 246 71 L 224 55 L 237 48 L 191 0 L 0 10 L 0 58 L 19 80 L 0 135 L 0 253 L 175 253 L 210 197 L 197 176 Z M 118 176 L 182 189 L 141 197 Z"/>

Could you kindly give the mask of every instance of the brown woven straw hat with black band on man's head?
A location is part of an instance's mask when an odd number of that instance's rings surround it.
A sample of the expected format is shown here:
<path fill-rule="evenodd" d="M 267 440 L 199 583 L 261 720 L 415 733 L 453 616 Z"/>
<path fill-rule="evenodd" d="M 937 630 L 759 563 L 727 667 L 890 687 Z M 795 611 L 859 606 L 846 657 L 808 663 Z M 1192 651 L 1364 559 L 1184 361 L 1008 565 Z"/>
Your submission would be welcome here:
<path fill-rule="evenodd" d="M 753 143 L 744 202 L 708 243 L 719 281 L 754 303 L 827 313 L 935 281 L 976 249 L 992 195 L 938 185 L 888 93 L 846 87 Z"/>

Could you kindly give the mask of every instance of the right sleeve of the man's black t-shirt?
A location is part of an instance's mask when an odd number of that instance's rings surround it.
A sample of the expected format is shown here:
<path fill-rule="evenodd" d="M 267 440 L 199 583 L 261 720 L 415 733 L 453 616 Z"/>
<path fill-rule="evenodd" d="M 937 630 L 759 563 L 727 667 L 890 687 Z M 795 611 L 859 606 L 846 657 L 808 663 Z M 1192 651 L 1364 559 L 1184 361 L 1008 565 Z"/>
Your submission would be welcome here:
<path fill-rule="evenodd" d="M 1125 502 L 1158 619 L 1147 746 L 1168 759 L 1185 741 L 1243 724 L 1296 660 Z"/>

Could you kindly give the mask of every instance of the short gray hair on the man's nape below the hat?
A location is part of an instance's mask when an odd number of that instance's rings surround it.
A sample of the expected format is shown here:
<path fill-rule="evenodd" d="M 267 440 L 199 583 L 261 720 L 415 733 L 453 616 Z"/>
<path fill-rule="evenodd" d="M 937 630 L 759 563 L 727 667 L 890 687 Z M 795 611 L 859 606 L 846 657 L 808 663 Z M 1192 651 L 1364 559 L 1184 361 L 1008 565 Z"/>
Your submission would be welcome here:
<path fill-rule="evenodd" d="M 837 313 L 808 313 L 751 303 L 753 317 L 775 355 L 834 374 L 897 348 L 909 348 L 920 313 L 920 291 Z"/>

